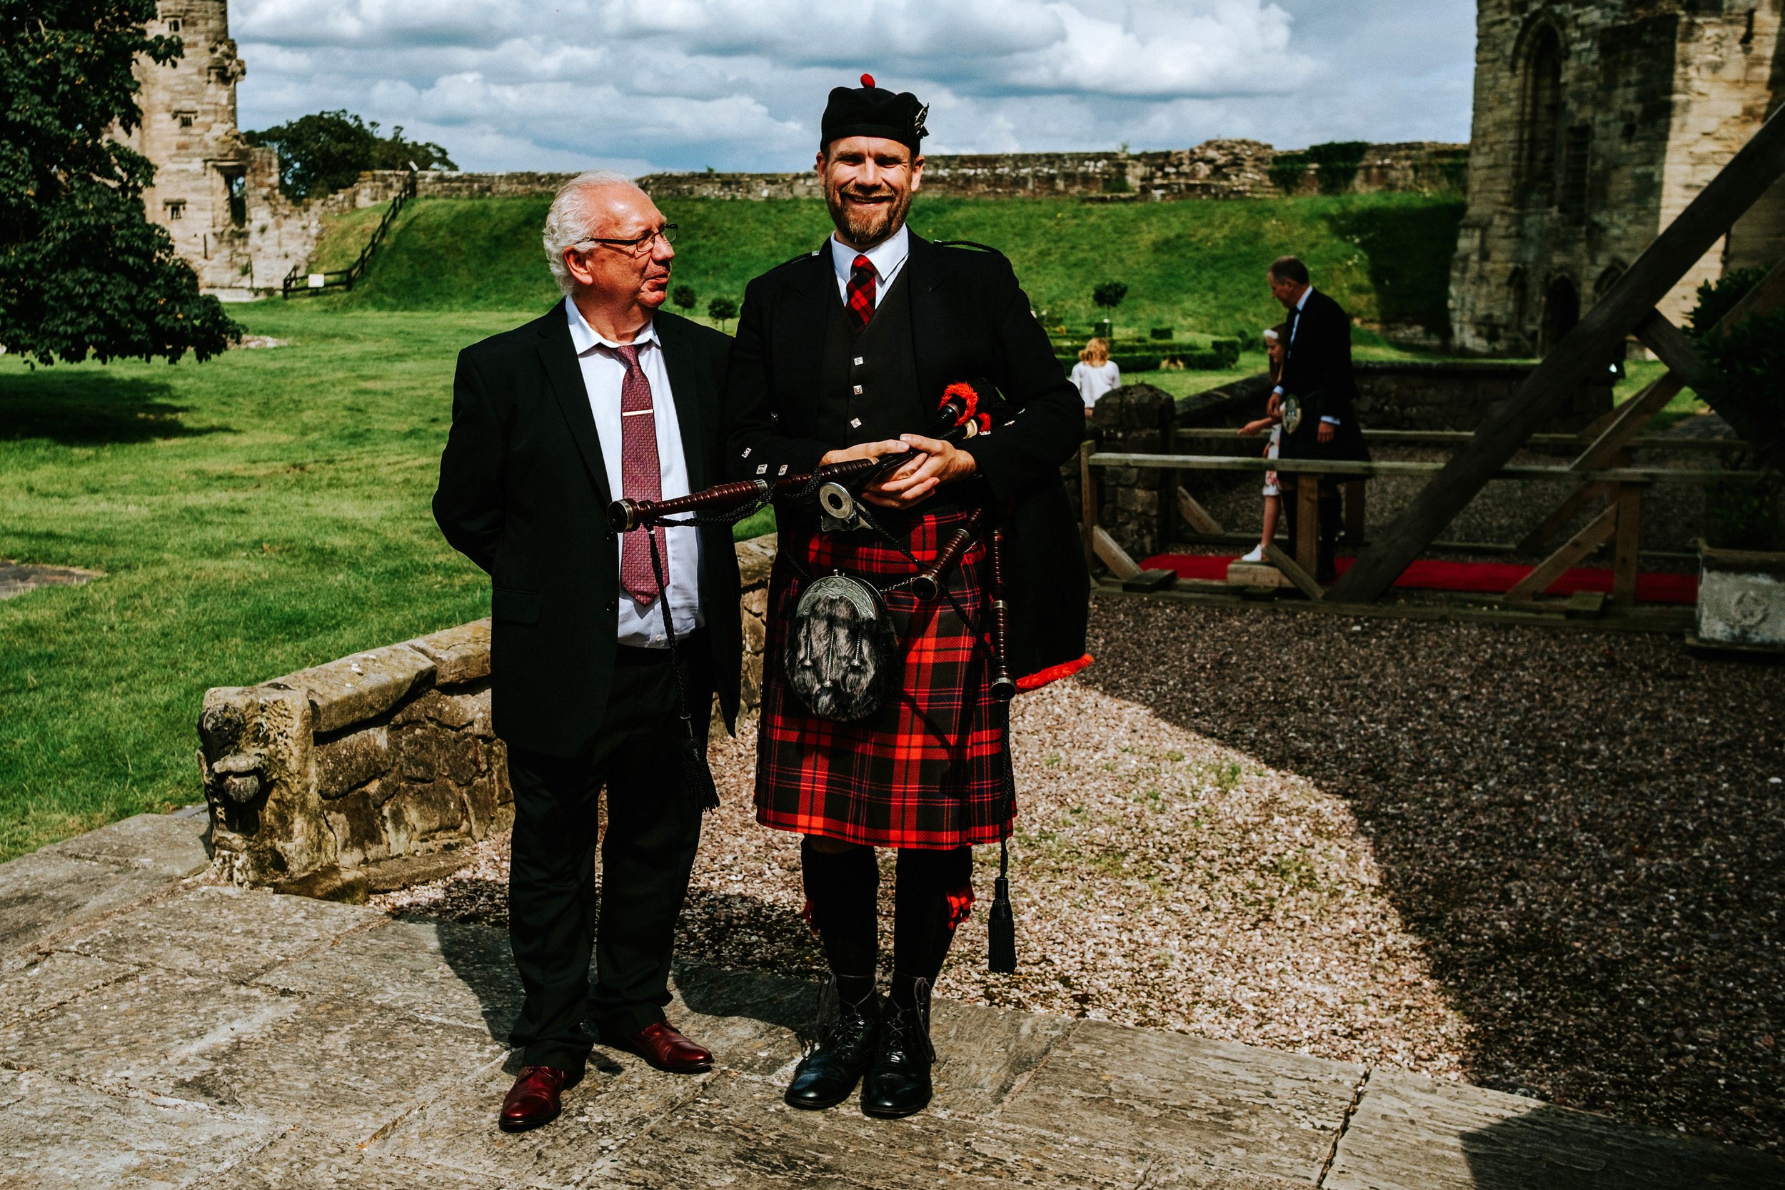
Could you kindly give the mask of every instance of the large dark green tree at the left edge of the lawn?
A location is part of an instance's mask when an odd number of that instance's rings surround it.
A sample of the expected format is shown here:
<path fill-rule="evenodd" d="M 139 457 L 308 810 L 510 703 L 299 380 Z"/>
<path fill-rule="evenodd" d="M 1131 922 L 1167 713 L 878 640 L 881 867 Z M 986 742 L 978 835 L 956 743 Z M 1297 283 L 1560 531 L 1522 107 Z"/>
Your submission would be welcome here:
<path fill-rule="evenodd" d="M 207 359 L 241 332 L 143 212 L 130 62 L 155 0 L 0 0 L 0 344 L 29 360 Z"/>

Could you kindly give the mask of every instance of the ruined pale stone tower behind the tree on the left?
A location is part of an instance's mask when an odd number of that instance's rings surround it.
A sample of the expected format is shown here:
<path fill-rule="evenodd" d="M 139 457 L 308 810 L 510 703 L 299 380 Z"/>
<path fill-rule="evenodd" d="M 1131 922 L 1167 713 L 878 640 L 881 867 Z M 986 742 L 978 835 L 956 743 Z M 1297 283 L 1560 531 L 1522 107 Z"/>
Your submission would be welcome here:
<path fill-rule="evenodd" d="M 155 164 L 148 218 L 221 298 L 277 289 L 316 243 L 320 221 L 278 193 L 278 153 L 236 128 L 236 84 L 246 73 L 228 36 L 225 0 L 161 0 L 150 34 L 180 37 L 170 66 L 136 64 L 143 121 L 123 141 Z"/>

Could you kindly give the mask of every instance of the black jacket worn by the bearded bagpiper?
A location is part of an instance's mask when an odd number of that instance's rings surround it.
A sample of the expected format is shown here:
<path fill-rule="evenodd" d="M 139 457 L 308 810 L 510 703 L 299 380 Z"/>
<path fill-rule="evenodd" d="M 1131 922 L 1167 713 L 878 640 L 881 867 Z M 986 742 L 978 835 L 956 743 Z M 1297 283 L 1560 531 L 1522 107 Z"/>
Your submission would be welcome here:
<path fill-rule="evenodd" d="M 1091 576 L 1060 464 L 1083 435 L 1083 401 L 1003 253 L 912 236 L 901 282 L 910 287 L 919 394 L 941 403 L 957 380 L 991 380 L 1009 407 L 1005 425 L 962 450 L 973 453 L 994 503 L 1010 510 L 1010 669 L 1023 674 L 1076 660 L 1085 651 Z M 762 464 L 768 476 L 782 466 L 787 475 L 812 471 L 825 451 L 848 446 L 807 437 L 825 400 L 826 319 L 841 302 L 828 241 L 744 289 L 725 401 L 730 478 L 755 478 Z"/>

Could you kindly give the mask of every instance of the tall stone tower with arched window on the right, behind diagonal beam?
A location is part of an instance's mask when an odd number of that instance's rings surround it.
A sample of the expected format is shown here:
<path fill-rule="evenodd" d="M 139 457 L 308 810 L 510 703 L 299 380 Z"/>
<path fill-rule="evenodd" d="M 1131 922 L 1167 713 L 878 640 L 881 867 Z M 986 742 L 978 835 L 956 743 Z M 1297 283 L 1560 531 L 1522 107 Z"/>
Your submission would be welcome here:
<path fill-rule="evenodd" d="M 1458 350 L 1548 350 L 1715 177 L 1785 98 L 1781 2 L 1480 0 Z M 1660 310 L 1781 248 L 1774 186 Z"/>

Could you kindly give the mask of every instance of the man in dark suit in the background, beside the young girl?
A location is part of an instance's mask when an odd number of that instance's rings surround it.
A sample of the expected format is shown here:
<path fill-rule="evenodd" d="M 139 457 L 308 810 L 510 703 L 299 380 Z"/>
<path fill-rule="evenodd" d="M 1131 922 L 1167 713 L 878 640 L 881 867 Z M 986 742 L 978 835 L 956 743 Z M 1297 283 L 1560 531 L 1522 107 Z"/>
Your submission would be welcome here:
<path fill-rule="evenodd" d="M 1357 423 L 1357 382 L 1351 376 L 1351 316 L 1308 284 L 1308 266 L 1296 257 L 1276 259 L 1264 275 L 1271 296 L 1289 310 L 1289 351 L 1271 391 L 1271 410 L 1299 409 L 1299 423 L 1283 423 L 1280 459 L 1369 459 Z M 1292 398 L 1292 400 L 1291 400 Z M 1314 578 L 1333 582 L 1333 541 L 1339 537 L 1339 489 L 1332 480 L 1285 473 L 1294 483 L 1319 483 L 1319 562 Z M 1287 494 L 1285 494 L 1287 496 Z M 1296 525 L 1294 498 L 1283 500 L 1289 535 Z"/>

